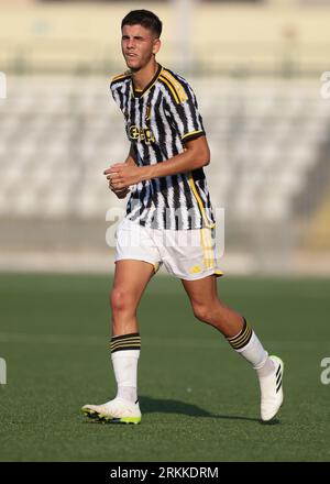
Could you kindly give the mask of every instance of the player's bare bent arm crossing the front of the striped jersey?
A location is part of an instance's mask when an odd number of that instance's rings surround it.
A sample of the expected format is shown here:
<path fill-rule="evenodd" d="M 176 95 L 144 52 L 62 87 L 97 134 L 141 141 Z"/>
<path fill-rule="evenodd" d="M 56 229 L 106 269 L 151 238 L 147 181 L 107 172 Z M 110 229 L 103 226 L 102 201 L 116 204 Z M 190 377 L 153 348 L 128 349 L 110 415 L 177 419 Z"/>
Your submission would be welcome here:
<path fill-rule="evenodd" d="M 118 163 L 106 169 L 105 175 L 111 178 L 116 188 L 124 188 L 143 180 L 158 178 L 178 173 L 191 172 L 210 163 L 210 150 L 205 135 L 187 141 L 185 150 L 173 158 L 148 166 L 131 166 Z"/>

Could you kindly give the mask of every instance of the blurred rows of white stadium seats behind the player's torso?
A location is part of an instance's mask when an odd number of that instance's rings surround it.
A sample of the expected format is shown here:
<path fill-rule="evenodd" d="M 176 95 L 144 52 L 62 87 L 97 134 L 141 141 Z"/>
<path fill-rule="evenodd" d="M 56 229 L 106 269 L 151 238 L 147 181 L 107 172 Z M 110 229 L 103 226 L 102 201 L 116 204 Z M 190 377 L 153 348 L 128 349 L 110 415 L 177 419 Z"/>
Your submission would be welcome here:
<path fill-rule="evenodd" d="M 211 146 L 212 202 L 239 220 L 285 220 L 329 135 L 308 81 L 189 79 Z M 103 77 L 13 77 L 0 101 L 0 217 L 102 218 L 123 206 L 102 170 L 124 160 L 120 112 Z"/>

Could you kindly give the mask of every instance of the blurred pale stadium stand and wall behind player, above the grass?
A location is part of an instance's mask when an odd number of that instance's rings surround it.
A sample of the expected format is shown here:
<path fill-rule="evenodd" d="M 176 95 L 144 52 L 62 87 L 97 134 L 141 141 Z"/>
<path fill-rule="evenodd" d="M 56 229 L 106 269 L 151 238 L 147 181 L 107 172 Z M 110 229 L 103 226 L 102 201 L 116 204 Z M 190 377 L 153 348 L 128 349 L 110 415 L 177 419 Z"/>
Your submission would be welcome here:
<path fill-rule="evenodd" d="M 199 100 L 223 268 L 329 275 L 329 0 L 0 0 L 0 270 L 112 271 L 106 213 L 125 202 L 102 170 L 129 143 L 109 82 L 138 8 Z"/>

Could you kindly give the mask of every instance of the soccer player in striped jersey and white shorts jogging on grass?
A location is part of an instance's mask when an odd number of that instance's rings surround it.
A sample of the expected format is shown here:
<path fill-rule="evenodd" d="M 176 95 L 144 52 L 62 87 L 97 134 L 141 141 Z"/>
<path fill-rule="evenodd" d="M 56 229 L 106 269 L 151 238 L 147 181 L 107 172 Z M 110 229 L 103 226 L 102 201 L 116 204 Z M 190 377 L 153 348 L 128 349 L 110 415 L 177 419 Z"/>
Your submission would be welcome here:
<path fill-rule="evenodd" d="M 268 356 L 246 320 L 217 294 L 221 271 L 204 173 L 210 152 L 195 94 L 182 76 L 156 62 L 162 22 L 154 13 L 131 11 L 121 30 L 129 70 L 112 79 L 111 92 L 124 116 L 131 146 L 124 163 L 105 172 L 118 198 L 131 193 L 127 216 L 117 229 L 110 295 L 110 351 L 118 391 L 110 402 L 81 410 L 111 422 L 141 421 L 136 309 L 151 277 L 164 264 L 180 278 L 195 317 L 220 331 L 256 371 L 261 418 L 271 420 L 283 403 L 283 362 Z"/>

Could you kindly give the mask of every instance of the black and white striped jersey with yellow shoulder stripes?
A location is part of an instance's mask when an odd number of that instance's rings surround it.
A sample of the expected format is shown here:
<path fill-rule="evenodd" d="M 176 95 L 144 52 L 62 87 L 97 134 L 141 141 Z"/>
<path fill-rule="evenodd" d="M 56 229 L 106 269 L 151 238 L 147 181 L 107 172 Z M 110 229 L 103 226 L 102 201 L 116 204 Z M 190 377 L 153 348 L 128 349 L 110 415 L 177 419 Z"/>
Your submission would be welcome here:
<path fill-rule="evenodd" d="M 195 94 L 177 74 L 158 66 L 143 91 L 131 74 L 116 76 L 111 94 L 125 120 L 139 166 L 162 163 L 205 135 Z M 210 195 L 202 168 L 141 182 L 132 187 L 127 218 L 152 229 L 189 230 L 213 227 Z"/>

